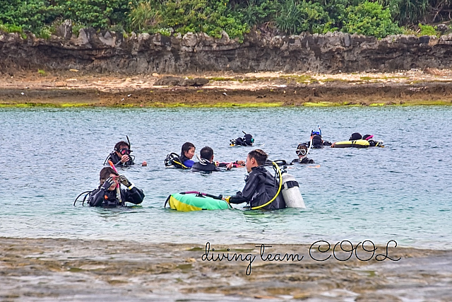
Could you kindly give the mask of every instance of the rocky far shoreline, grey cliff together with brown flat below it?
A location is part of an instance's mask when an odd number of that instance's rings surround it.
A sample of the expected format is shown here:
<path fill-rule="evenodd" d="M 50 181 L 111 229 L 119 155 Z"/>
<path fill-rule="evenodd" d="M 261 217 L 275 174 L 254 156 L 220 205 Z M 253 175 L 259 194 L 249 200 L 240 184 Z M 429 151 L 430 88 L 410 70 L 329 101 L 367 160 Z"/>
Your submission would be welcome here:
<path fill-rule="evenodd" d="M 451 44 L 452 34 L 0 33 L 0 106 L 449 105 Z"/>

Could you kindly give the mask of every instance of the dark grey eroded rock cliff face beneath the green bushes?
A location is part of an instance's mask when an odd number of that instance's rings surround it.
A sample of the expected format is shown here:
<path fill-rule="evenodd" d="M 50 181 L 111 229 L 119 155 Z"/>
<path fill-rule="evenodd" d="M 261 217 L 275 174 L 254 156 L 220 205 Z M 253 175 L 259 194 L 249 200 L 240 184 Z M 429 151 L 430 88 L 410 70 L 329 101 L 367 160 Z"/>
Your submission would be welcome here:
<path fill-rule="evenodd" d="M 75 35 L 61 31 L 48 40 L 0 33 L 0 67 L 120 74 L 201 74 L 206 71 L 314 71 L 333 74 L 452 66 L 452 34 L 441 37 L 374 37 L 327 33 L 263 37 L 249 33 L 243 42 L 223 33 L 166 37 L 92 28 Z"/>

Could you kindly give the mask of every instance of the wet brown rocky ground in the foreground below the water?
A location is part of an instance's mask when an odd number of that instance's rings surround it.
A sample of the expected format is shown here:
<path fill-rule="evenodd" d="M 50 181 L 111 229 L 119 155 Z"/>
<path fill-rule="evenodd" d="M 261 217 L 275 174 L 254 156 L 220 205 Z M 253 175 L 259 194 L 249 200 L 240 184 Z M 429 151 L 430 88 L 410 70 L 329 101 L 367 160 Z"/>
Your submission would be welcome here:
<path fill-rule="evenodd" d="M 452 300 L 452 250 L 388 246 L 349 260 L 338 248 L 339 261 L 310 245 L 210 243 L 206 255 L 197 244 L 0 237 L 0 300 Z M 232 261 L 208 261 L 223 253 Z"/>

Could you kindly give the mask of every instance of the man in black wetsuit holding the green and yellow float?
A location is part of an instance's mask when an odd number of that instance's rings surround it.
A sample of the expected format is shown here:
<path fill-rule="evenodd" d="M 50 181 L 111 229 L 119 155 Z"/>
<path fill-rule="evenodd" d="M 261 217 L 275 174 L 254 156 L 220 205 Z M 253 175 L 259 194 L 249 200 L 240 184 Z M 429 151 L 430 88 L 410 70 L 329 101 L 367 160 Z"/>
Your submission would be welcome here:
<path fill-rule="evenodd" d="M 278 192 L 278 181 L 262 165 L 267 161 L 267 154 L 261 149 L 256 149 L 248 153 L 246 157 L 246 171 L 249 175 L 245 179 L 245 187 L 242 192 L 237 192 L 234 196 L 228 196 L 224 199 L 231 204 L 249 203 L 249 207 L 259 207 L 270 202 Z M 262 209 L 284 209 L 285 202 L 282 194 L 270 204 Z"/>

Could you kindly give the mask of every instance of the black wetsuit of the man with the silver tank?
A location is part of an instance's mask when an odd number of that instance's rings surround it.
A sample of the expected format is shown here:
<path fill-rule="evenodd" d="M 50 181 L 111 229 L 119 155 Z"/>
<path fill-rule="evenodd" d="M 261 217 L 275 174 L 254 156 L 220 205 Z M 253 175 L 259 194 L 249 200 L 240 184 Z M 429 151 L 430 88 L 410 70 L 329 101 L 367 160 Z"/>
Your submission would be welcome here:
<path fill-rule="evenodd" d="M 278 182 L 264 167 L 252 168 L 245 182 L 246 184 L 242 192 L 237 192 L 235 196 L 230 197 L 229 202 L 231 204 L 249 202 L 250 207 L 258 207 L 269 202 L 275 196 L 276 192 L 278 192 Z M 283 194 L 278 194 L 278 197 L 273 202 L 262 209 L 274 210 L 284 208 Z"/>

